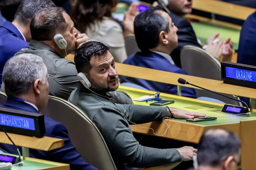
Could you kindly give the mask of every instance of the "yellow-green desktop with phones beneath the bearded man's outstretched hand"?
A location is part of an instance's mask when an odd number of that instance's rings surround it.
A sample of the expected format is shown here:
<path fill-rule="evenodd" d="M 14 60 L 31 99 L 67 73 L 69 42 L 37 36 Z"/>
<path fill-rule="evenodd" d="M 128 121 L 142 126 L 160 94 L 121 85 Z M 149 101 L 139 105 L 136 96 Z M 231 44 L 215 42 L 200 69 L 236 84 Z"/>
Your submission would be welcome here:
<path fill-rule="evenodd" d="M 125 91 L 132 97 L 132 99 L 138 98 L 143 95 L 149 95 L 149 94 L 155 93 L 153 91 L 135 89 L 135 88 L 125 87 L 125 86 L 119 86 L 118 90 Z M 223 104 L 207 102 L 203 100 L 196 100 L 188 97 L 180 97 L 180 96 L 166 94 L 166 93 L 161 93 L 160 98 L 163 98 L 163 100 L 174 100 L 175 102 L 173 104 L 167 105 L 170 107 L 179 108 L 179 109 L 183 109 L 191 112 L 199 112 L 199 113 L 206 114 L 206 116 L 215 116 L 215 117 L 232 116 L 230 114 L 221 112 Z M 149 106 L 149 103 L 146 103 L 145 101 L 143 102 L 134 101 L 134 104 Z M 175 119 L 175 120 L 186 122 L 186 120 L 184 119 Z M 240 116 L 221 117 L 213 121 L 205 121 L 205 122 L 197 122 L 197 123 L 188 122 L 188 123 L 208 126 L 208 125 L 239 123 L 240 121 L 244 121 L 244 120 L 256 120 L 256 113 L 252 113 L 250 117 L 240 117 Z"/>

